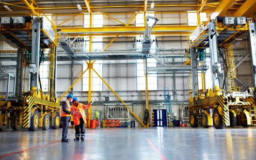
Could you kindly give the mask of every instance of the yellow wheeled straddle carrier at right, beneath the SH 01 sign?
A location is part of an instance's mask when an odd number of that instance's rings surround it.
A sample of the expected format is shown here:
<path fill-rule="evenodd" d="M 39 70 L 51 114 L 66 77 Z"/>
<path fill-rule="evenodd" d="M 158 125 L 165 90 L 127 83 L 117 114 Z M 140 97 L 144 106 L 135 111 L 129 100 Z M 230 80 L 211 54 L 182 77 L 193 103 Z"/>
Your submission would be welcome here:
<path fill-rule="evenodd" d="M 250 53 L 251 53 L 251 61 L 252 61 L 252 69 L 253 69 L 253 87 L 255 88 L 255 68 L 256 68 L 256 39 L 255 39 L 255 23 L 252 21 L 248 21 L 244 27 L 233 28 L 229 26 L 219 27 L 223 25 L 217 24 L 217 20 L 212 20 L 207 24 L 207 29 L 204 29 L 200 36 L 190 45 L 190 54 L 193 57 L 193 48 L 202 47 L 200 44 L 209 37 L 209 47 L 211 53 L 211 68 L 213 68 L 212 80 L 213 80 L 213 88 L 207 89 L 206 94 L 198 95 L 198 90 L 196 90 L 196 86 L 193 87 L 193 95 L 194 97 L 190 100 L 189 103 L 189 122 L 191 127 L 197 127 L 201 124 L 203 127 L 209 127 L 214 125 L 216 129 L 223 129 L 226 126 L 235 126 L 236 125 L 236 115 L 239 120 L 239 123 L 248 127 L 253 124 L 250 115 L 250 108 L 252 111 L 255 110 L 255 101 L 253 99 L 252 92 L 231 92 L 229 94 L 222 94 L 222 89 L 219 89 L 217 81 L 215 77 L 215 69 L 214 65 L 218 62 L 218 46 L 223 47 L 224 45 L 229 44 L 234 36 L 237 35 L 237 32 L 249 32 L 250 39 Z M 223 44 L 218 44 L 217 36 L 221 34 L 222 30 L 235 30 L 236 33 L 227 38 Z M 203 44 L 203 47 L 205 44 Z M 191 59 L 191 63 L 194 59 Z M 193 66 L 191 66 L 193 67 Z M 197 68 L 193 67 L 193 72 L 197 73 Z M 195 79 L 197 79 L 197 74 L 193 74 L 193 84 Z M 197 81 L 196 81 L 197 82 Z M 252 90 L 250 90 L 252 91 Z M 255 97 L 255 95 L 254 95 Z M 211 119 L 211 112 L 213 112 Z M 255 116 L 255 115 L 254 115 Z M 255 120 L 255 117 L 254 117 Z"/>

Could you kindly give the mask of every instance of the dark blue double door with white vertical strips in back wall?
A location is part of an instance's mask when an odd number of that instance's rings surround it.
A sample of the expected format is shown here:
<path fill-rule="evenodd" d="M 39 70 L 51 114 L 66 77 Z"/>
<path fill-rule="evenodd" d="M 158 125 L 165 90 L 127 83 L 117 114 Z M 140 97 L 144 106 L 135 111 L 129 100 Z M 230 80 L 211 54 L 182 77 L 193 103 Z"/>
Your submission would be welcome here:
<path fill-rule="evenodd" d="M 167 126 L 166 109 L 153 109 L 154 126 Z"/>

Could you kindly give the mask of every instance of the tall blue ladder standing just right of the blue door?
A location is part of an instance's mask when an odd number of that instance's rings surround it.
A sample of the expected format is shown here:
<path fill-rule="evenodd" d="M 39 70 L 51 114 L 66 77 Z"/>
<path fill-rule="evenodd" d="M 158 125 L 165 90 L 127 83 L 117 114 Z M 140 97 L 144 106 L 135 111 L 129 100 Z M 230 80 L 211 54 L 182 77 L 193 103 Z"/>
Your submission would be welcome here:
<path fill-rule="evenodd" d="M 171 108 L 171 95 L 168 88 L 164 88 L 164 99 L 166 105 L 167 127 L 173 127 L 173 115 Z"/>

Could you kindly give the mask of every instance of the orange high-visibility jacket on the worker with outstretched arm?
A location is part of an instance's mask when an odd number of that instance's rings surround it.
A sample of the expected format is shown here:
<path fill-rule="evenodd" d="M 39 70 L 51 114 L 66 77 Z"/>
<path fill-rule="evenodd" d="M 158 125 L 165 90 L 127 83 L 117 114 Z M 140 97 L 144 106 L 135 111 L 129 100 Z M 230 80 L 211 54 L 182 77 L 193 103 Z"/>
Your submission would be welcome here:
<path fill-rule="evenodd" d="M 71 112 L 73 113 L 73 121 L 74 125 L 79 125 L 80 124 L 80 118 L 83 118 L 84 123 L 86 123 L 86 115 L 85 115 L 85 109 L 90 108 L 90 104 L 82 104 L 79 103 L 78 106 L 72 105 L 71 107 Z"/>

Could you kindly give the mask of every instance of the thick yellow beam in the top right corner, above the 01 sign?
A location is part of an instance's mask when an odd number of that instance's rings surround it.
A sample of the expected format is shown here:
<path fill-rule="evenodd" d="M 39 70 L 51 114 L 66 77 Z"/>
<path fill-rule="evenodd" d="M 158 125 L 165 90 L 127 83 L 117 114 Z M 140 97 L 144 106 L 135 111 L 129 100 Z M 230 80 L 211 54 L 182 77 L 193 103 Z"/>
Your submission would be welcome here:
<path fill-rule="evenodd" d="M 256 1 L 247 0 L 234 14 L 233 17 L 248 16 L 253 17 L 256 12 Z"/>

